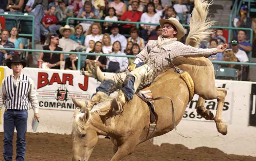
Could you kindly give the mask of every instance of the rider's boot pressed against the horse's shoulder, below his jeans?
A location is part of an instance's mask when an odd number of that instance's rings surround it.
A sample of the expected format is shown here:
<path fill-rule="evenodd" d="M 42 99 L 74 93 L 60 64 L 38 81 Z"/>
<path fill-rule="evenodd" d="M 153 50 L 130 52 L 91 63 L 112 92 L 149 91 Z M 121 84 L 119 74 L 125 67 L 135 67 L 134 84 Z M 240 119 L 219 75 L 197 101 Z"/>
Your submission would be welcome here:
<path fill-rule="evenodd" d="M 111 108 L 113 115 L 118 115 L 122 112 L 124 104 L 127 102 L 127 97 L 124 92 L 120 89 L 117 98 L 114 98 L 111 102 Z"/>

